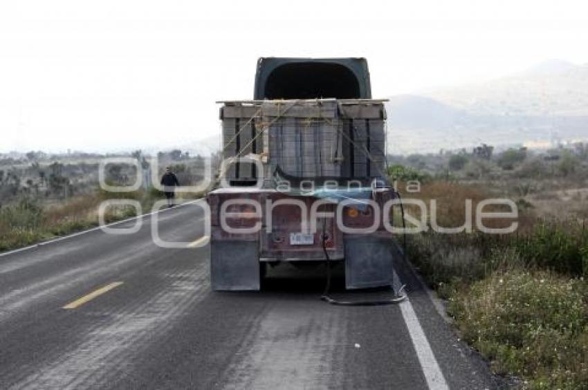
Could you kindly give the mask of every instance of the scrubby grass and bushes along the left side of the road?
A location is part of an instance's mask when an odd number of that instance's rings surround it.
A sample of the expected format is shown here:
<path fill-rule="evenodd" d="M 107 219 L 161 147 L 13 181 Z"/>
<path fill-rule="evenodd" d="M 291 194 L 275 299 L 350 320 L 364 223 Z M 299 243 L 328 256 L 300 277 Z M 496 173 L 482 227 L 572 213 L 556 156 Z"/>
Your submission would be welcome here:
<path fill-rule="evenodd" d="M 147 169 L 145 156 L 140 151 L 130 156 L 138 159 L 142 169 Z M 165 199 L 154 187 L 120 193 L 100 189 L 100 157 L 46 156 L 30 152 L 20 160 L 0 159 L 0 251 L 98 226 L 98 207 L 108 199 L 133 199 L 140 203 L 143 212 L 149 212 L 156 201 Z M 200 156 L 192 158 L 181 151 L 170 151 L 158 157 L 158 176 L 169 166 L 181 184 L 190 185 L 201 180 L 203 158 Z M 107 183 L 130 185 L 139 174 L 136 170 L 129 165 L 108 165 Z M 178 193 L 176 197 L 181 201 L 200 195 Z M 104 221 L 109 223 L 135 215 L 134 207 L 112 206 L 105 212 Z"/>

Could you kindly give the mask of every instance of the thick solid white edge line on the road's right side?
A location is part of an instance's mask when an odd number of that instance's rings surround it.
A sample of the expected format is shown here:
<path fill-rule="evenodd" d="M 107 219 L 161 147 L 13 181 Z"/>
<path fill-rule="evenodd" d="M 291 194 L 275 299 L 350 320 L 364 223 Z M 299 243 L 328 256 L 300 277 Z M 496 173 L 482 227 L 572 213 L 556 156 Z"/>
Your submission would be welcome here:
<path fill-rule="evenodd" d="M 449 389 L 441 368 L 439 368 L 439 363 L 437 363 L 437 359 L 435 359 L 435 355 L 427 340 L 425 331 L 423 331 L 419 318 L 416 317 L 416 313 L 414 313 L 414 308 L 408 297 L 399 306 L 429 389 Z"/>

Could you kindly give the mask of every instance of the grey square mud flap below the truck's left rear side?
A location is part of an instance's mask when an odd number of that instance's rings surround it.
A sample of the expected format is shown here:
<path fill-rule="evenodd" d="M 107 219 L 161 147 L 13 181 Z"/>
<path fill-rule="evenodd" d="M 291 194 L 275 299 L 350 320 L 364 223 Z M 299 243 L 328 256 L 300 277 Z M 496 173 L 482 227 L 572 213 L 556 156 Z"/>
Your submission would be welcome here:
<path fill-rule="evenodd" d="M 259 290 L 259 242 L 210 243 L 212 290 Z"/>

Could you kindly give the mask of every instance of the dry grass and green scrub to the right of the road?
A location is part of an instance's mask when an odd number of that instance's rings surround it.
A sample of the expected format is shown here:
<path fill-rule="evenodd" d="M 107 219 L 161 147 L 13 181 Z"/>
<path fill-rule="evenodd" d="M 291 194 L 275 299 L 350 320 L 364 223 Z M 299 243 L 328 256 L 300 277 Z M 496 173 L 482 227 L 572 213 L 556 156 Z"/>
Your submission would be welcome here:
<path fill-rule="evenodd" d="M 483 157 L 461 152 L 443 163 L 413 156 L 421 175 L 432 179 L 418 194 L 403 196 L 437 199 L 437 221 L 444 227 L 463 225 L 466 199 L 475 210 L 484 198 L 511 198 L 519 206 L 517 231 L 429 230 L 408 236 L 407 254 L 445 299 L 463 340 L 488 358 L 493 371 L 520 378 L 527 389 L 588 389 L 585 148 L 546 156 L 510 149 L 491 158 L 484 150 Z M 549 157 L 555 152 L 560 158 Z M 417 169 L 409 164 L 406 171 Z M 494 227 L 510 222 L 493 221 Z"/>

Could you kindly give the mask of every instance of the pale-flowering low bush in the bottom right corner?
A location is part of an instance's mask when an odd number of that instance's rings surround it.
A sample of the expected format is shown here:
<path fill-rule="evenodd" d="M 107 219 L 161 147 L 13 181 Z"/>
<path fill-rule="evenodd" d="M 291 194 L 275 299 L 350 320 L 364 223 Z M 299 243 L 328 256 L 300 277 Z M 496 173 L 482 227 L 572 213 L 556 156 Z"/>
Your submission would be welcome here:
<path fill-rule="evenodd" d="M 532 389 L 588 387 L 588 288 L 549 272 L 496 272 L 454 295 L 463 337 Z"/>

